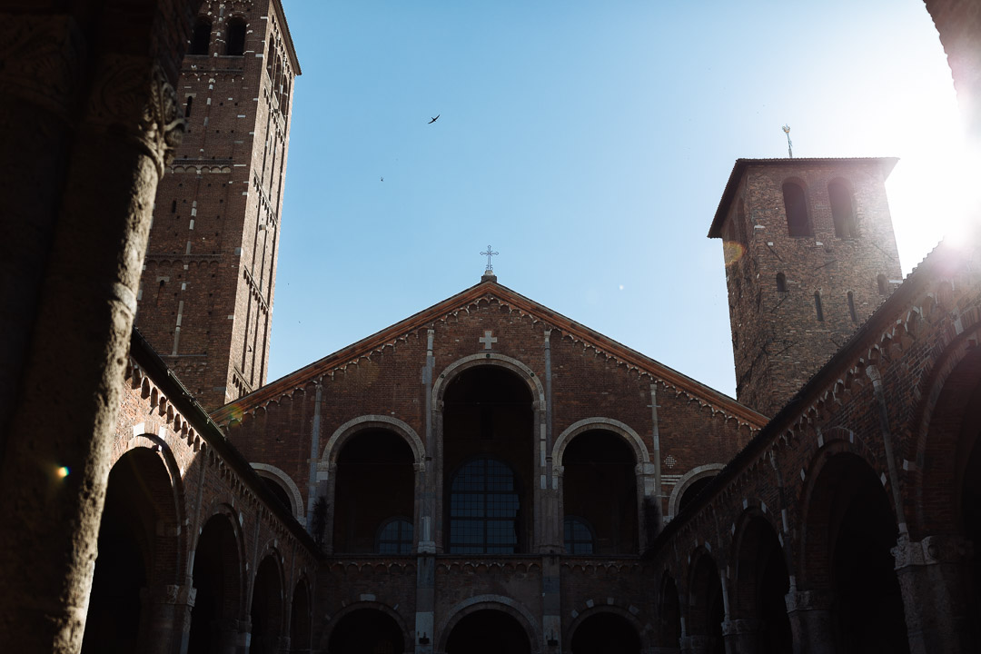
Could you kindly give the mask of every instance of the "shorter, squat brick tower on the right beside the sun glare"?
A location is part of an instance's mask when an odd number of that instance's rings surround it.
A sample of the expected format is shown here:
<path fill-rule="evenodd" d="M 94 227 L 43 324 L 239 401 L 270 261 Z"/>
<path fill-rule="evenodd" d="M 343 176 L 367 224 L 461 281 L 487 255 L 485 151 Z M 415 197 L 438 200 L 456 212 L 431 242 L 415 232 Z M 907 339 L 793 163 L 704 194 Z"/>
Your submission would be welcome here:
<path fill-rule="evenodd" d="M 885 181 L 897 159 L 739 159 L 723 239 L 736 398 L 773 416 L 902 279 Z"/>

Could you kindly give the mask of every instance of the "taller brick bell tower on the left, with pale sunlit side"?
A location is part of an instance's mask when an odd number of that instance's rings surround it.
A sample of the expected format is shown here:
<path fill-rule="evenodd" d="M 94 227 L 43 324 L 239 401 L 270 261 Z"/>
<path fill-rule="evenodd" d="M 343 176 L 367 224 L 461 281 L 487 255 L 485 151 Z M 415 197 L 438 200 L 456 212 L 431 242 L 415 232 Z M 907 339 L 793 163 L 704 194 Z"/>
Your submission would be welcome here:
<path fill-rule="evenodd" d="M 206 1 L 177 87 L 136 327 L 209 410 L 266 382 L 293 79 L 280 0 Z"/>

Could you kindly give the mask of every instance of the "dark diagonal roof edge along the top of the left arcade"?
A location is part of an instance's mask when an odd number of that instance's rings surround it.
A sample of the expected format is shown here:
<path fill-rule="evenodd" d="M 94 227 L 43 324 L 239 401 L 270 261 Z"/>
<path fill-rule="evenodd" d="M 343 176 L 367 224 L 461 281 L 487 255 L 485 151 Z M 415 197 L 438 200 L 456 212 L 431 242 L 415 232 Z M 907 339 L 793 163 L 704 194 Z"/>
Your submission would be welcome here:
<path fill-rule="evenodd" d="M 302 542 L 314 557 L 320 558 L 320 549 L 313 536 L 303 528 L 296 520 L 296 517 L 289 511 L 289 507 L 284 506 L 280 498 L 270 490 L 265 481 L 256 474 L 255 469 L 242 453 L 229 442 L 222 428 L 208 415 L 208 412 L 198 403 L 194 396 L 190 394 L 181 383 L 174 371 L 168 367 L 164 360 L 160 358 L 157 351 L 153 349 L 149 341 L 143 337 L 139 329 L 132 327 L 129 338 L 129 356 L 135 360 L 139 367 L 143 369 L 147 377 L 153 379 L 155 383 L 167 395 L 167 399 L 177 407 L 181 415 L 197 430 L 197 433 L 208 443 L 209 447 L 215 450 L 229 464 L 232 470 L 259 498 L 261 498 L 283 522 L 285 528 L 293 536 Z"/>

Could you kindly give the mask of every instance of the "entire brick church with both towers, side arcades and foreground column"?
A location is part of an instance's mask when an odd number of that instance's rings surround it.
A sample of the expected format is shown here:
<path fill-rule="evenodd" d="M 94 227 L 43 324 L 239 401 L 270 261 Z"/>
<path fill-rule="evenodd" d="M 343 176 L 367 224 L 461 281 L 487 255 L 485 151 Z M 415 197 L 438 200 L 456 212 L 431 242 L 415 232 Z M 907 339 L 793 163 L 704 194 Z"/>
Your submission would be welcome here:
<path fill-rule="evenodd" d="M 8 4 L 8 647 L 981 645 L 981 234 L 902 279 L 895 160 L 736 162 L 736 400 L 490 271 L 267 384 L 279 0 Z M 981 17 L 927 6 L 977 126 Z"/>

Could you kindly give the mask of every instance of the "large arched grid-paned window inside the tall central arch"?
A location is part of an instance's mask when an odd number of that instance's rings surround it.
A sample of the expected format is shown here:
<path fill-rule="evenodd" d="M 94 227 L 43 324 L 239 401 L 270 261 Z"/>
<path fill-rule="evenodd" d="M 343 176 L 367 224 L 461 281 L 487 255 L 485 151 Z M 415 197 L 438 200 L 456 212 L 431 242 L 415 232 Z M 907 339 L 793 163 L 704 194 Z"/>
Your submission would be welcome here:
<path fill-rule="evenodd" d="M 507 464 L 475 459 L 463 465 L 450 485 L 450 553 L 514 554 L 519 510 L 514 472 Z"/>

